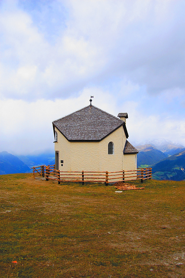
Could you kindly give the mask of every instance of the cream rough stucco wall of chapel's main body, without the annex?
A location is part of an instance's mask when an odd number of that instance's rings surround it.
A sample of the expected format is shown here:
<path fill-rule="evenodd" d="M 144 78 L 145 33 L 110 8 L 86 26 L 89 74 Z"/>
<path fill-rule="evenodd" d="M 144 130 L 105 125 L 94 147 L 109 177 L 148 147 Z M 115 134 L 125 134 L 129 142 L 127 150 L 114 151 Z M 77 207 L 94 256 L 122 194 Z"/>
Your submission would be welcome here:
<path fill-rule="evenodd" d="M 69 142 L 57 129 L 60 171 L 122 171 L 125 133 L 121 126 L 100 142 Z M 114 154 L 108 154 L 108 144 L 113 142 Z M 60 160 L 64 160 L 61 166 Z"/>

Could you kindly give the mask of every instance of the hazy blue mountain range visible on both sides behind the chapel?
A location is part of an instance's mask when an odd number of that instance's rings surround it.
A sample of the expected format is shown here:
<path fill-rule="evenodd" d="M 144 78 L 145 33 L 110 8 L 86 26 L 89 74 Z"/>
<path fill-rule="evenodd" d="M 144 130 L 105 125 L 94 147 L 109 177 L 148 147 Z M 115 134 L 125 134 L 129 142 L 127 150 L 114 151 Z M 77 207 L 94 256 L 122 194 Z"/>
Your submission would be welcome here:
<path fill-rule="evenodd" d="M 171 142 L 153 142 L 137 146 L 137 165 L 152 167 L 155 179 L 185 180 L 185 148 Z M 159 149 L 160 148 L 160 149 Z M 31 153 L 15 156 L 8 152 L 0 153 L 0 175 L 14 173 L 29 173 L 31 167 L 55 164 L 54 152 Z"/>

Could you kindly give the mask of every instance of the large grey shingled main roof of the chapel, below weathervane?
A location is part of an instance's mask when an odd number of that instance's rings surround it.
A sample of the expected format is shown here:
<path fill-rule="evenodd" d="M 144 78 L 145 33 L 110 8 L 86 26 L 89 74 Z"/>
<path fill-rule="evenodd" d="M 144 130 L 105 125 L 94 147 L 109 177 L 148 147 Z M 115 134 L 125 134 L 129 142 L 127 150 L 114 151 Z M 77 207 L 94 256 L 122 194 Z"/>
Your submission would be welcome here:
<path fill-rule="evenodd" d="M 124 121 L 93 105 L 53 121 L 53 129 L 56 127 L 68 141 L 101 141 L 121 126 L 128 138 Z"/>

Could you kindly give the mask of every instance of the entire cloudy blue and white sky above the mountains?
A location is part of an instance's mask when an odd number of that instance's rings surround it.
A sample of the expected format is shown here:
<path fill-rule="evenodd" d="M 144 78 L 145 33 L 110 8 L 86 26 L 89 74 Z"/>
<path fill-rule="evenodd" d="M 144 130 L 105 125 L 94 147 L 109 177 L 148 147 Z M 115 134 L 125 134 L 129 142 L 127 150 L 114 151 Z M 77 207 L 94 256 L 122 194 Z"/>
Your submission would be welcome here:
<path fill-rule="evenodd" d="M 127 112 L 128 140 L 185 146 L 185 1 L 0 0 L 0 151 L 54 151 L 52 121 Z"/>

